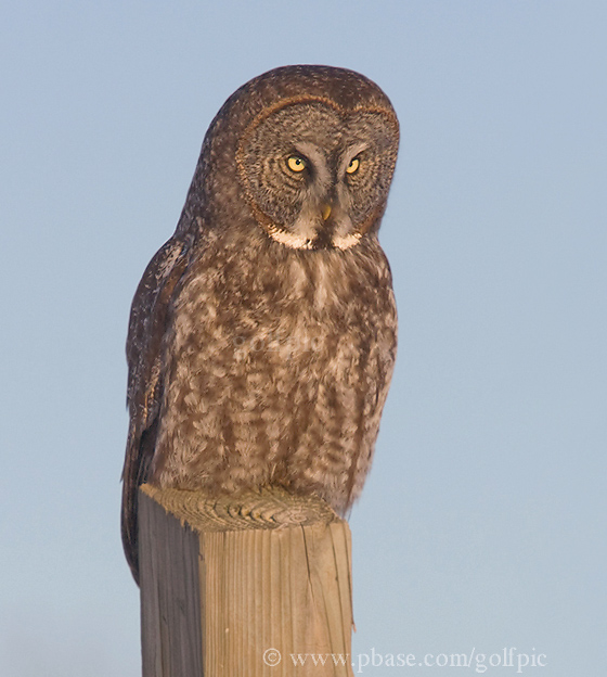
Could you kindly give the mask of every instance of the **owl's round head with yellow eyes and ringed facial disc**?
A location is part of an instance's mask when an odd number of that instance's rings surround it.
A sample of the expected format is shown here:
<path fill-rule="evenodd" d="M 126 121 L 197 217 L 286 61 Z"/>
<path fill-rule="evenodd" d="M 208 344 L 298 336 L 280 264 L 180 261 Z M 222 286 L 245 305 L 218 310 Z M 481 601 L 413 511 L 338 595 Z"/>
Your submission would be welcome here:
<path fill-rule="evenodd" d="M 198 188 L 216 213 L 218 192 L 223 207 L 244 206 L 282 246 L 348 250 L 379 226 L 398 142 L 395 111 L 367 78 L 327 66 L 276 68 L 219 112 Z"/>

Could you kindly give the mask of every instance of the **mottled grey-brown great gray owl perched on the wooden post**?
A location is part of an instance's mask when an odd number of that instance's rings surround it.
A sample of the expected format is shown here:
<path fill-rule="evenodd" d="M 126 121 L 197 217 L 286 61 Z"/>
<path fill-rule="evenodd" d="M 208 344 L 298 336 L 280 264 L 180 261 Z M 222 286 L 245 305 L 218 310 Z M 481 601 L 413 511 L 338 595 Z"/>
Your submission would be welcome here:
<path fill-rule="evenodd" d="M 361 491 L 397 316 L 377 230 L 399 127 L 341 68 L 238 89 L 205 137 L 172 238 L 137 290 L 122 540 L 138 579 L 138 488 L 280 485 L 344 514 Z"/>

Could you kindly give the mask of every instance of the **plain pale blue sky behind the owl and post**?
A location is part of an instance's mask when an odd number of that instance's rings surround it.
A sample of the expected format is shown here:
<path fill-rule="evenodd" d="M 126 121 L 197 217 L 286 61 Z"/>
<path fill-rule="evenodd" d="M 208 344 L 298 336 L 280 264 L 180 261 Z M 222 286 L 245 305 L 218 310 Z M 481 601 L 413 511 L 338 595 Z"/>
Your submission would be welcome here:
<path fill-rule="evenodd" d="M 139 675 L 129 306 L 212 116 L 290 63 L 364 73 L 402 129 L 354 653 L 516 647 L 547 656 L 524 674 L 603 674 L 606 36 L 599 0 L 2 3 L 0 675 Z"/>

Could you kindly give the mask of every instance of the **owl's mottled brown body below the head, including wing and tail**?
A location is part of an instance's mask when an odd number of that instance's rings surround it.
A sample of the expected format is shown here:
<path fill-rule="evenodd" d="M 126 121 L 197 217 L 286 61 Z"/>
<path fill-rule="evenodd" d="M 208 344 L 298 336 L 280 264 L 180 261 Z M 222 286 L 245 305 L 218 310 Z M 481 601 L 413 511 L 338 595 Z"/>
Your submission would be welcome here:
<path fill-rule="evenodd" d="M 371 463 L 396 341 L 374 237 L 296 255 L 221 237 L 169 241 L 129 330 L 122 533 L 135 577 L 145 481 L 210 493 L 280 484 L 344 513 Z"/>

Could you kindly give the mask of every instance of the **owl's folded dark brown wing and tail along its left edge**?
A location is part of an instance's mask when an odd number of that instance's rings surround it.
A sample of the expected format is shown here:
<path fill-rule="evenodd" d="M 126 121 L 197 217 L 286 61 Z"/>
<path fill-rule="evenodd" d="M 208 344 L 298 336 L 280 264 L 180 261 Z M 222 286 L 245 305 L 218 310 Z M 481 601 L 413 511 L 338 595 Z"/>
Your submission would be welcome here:
<path fill-rule="evenodd" d="M 139 583 L 138 491 L 154 456 L 162 399 L 162 345 L 175 288 L 188 265 L 191 239 L 175 235 L 150 261 L 137 288 L 127 338 L 129 433 L 122 469 L 122 546 Z"/>

